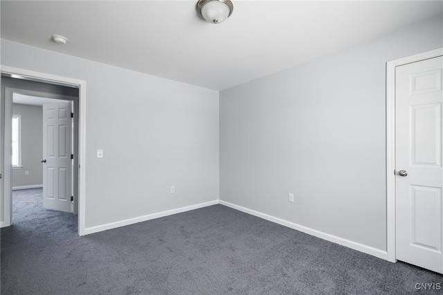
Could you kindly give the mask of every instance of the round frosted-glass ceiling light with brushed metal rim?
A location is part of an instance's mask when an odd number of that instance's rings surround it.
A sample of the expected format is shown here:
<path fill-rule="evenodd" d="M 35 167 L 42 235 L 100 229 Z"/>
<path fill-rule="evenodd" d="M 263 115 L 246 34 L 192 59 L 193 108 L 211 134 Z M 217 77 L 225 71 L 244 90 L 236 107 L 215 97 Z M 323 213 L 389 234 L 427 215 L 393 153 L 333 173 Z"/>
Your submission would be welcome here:
<path fill-rule="evenodd" d="M 212 24 L 220 24 L 230 17 L 234 6 L 230 0 L 199 0 L 197 10 L 206 21 Z"/>

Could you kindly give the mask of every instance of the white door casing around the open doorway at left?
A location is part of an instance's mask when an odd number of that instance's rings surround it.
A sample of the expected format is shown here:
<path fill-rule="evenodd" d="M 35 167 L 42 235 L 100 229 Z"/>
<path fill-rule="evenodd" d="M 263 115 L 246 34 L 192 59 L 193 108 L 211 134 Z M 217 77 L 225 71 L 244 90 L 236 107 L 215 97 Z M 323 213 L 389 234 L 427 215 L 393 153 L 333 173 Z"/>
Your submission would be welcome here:
<path fill-rule="evenodd" d="M 41 73 L 37 71 L 30 71 L 26 69 L 19 69 L 12 66 L 3 66 L 0 65 L 1 73 L 9 74 L 12 78 L 21 78 L 24 80 L 33 80 L 37 82 L 44 82 L 47 84 L 57 84 L 63 86 L 70 87 L 78 87 L 78 235 L 85 234 L 85 226 L 86 226 L 86 81 L 78 80 L 73 78 L 66 78 L 59 75 L 51 75 L 48 73 Z M 3 159 L 4 160 L 4 159 Z M 1 161 L 4 165 L 4 161 Z M 0 170 L 4 170 L 4 167 L 1 167 Z M 3 185 L 3 189 L 5 186 Z M 10 220 L 10 198 L 9 204 L 6 204 L 7 198 L 3 192 L 3 217 L 5 220 L 3 221 L 3 226 L 8 226 L 11 224 Z M 9 196 L 10 197 L 10 196 Z M 8 205 L 8 206 L 7 206 Z M 8 212 L 6 212 L 8 211 Z M 6 214 L 8 213 L 8 214 Z M 9 220 L 6 220 L 6 217 L 9 216 Z"/>

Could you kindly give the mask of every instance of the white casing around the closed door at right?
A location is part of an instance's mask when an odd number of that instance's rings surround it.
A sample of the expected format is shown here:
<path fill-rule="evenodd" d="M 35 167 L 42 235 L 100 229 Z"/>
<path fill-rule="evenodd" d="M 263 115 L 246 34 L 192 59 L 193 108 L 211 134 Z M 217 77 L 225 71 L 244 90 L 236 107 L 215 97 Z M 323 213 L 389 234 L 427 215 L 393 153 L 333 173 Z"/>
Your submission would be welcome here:
<path fill-rule="evenodd" d="M 387 260 L 396 262 L 395 254 L 395 68 L 443 55 L 443 48 L 426 51 L 386 63 L 386 250 Z"/>

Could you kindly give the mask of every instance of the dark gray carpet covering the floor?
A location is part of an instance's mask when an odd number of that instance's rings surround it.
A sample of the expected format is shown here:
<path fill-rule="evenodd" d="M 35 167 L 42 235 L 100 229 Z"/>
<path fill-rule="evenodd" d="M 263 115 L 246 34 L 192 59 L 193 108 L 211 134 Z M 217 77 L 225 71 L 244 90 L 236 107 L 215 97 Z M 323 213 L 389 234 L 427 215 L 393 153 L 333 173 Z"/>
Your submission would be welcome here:
<path fill-rule="evenodd" d="M 14 197 L 1 294 L 442 294 L 443 276 L 216 205 L 84 237 L 76 217 Z"/>

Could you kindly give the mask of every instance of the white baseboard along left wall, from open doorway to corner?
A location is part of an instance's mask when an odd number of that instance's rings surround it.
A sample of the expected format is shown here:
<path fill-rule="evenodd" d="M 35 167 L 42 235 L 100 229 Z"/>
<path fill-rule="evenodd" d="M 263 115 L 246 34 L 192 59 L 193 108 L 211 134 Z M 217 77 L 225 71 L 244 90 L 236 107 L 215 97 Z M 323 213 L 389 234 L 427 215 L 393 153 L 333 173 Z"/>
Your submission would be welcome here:
<path fill-rule="evenodd" d="M 99 231 L 106 231 L 108 229 L 115 229 L 117 227 L 120 226 L 127 226 L 129 224 L 136 224 L 138 222 L 145 222 L 147 220 L 154 220 L 156 218 L 160 218 L 160 217 L 165 217 L 165 216 L 169 216 L 169 215 L 174 215 L 177 213 L 182 213 L 182 212 L 186 212 L 186 211 L 191 211 L 191 210 L 195 210 L 198 208 L 204 208 L 207 206 L 213 206 L 213 205 L 217 205 L 219 204 L 219 200 L 214 200 L 214 201 L 210 201 L 210 202 L 205 202 L 205 203 L 200 203 L 200 204 L 195 204 L 195 205 L 191 205 L 191 206 L 186 206 L 186 207 L 181 207 L 181 208 L 177 208 L 177 209 L 172 209 L 172 210 L 168 210 L 168 211 L 162 211 L 159 213 L 152 213 L 149 215 L 143 215 L 140 217 L 135 217 L 135 218 L 130 218 L 128 220 L 121 220 L 119 222 L 111 222 L 109 224 L 102 224 L 99 226 L 92 226 L 92 227 L 88 227 L 87 229 L 84 229 L 84 234 L 85 235 L 89 235 L 90 233 L 98 233 Z"/>

